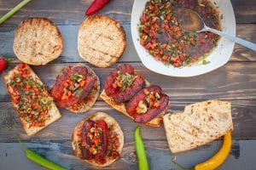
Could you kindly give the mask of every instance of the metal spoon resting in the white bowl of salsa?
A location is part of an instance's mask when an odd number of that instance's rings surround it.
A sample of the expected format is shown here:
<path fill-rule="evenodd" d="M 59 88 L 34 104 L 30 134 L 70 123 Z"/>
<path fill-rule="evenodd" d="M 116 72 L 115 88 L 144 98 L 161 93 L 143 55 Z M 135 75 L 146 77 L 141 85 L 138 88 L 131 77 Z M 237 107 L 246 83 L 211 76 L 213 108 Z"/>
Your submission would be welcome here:
<path fill-rule="evenodd" d="M 215 34 L 218 34 L 221 37 L 225 37 L 230 39 L 233 42 L 239 43 L 247 48 L 251 48 L 256 51 L 256 44 L 253 42 L 248 42 L 239 37 L 230 36 L 223 31 L 218 31 L 206 26 L 204 20 L 202 20 L 201 16 L 197 14 L 194 10 L 189 8 L 177 8 L 175 11 L 177 14 L 177 20 L 179 22 L 179 26 L 181 26 L 183 31 L 211 31 Z"/>

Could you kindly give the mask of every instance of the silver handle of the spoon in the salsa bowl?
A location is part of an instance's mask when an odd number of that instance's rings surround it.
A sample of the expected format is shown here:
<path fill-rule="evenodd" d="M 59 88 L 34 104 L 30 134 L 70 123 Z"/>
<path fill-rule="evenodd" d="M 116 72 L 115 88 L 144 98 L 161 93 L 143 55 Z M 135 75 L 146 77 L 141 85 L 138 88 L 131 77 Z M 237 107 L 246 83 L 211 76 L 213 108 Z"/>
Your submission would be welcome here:
<path fill-rule="evenodd" d="M 239 43 L 239 44 L 241 44 L 241 45 L 243 45 L 243 46 L 245 46 L 245 47 L 247 47 L 247 48 L 251 48 L 251 49 L 253 49 L 254 51 L 256 51 L 256 44 L 253 43 L 253 42 L 248 42 L 248 41 L 243 40 L 243 39 L 241 39 L 241 38 L 239 38 L 239 37 L 230 36 L 229 34 L 226 34 L 226 33 L 224 33 L 223 31 L 218 31 L 218 30 L 209 28 L 209 27 L 207 27 L 207 26 L 205 26 L 204 31 L 211 31 L 211 32 L 213 32 L 213 33 L 215 33 L 215 34 L 218 34 L 218 35 L 221 36 L 221 37 L 228 38 L 228 39 L 230 39 L 230 40 L 233 41 L 233 42 Z"/>

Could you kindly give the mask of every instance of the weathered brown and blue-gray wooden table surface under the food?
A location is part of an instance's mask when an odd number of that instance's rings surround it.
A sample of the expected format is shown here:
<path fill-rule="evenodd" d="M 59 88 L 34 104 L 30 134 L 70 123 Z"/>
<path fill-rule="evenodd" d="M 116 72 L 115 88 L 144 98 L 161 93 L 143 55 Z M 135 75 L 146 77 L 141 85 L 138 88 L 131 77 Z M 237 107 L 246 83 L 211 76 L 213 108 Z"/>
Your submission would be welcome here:
<path fill-rule="evenodd" d="M 13 8 L 20 0 L 0 0 L 0 16 Z M 21 20 L 30 16 L 44 16 L 53 20 L 64 37 L 65 48 L 61 57 L 44 66 L 32 66 L 48 88 L 55 82 L 55 77 L 66 65 L 84 62 L 77 50 L 79 24 L 86 18 L 84 9 L 90 0 L 32 0 L 20 12 L 0 26 L 0 54 L 15 58 L 13 39 L 15 28 Z M 235 131 L 230 156 L 219 169 L 255 169 L 256 154 L 256 53 L 236 44 L 230 61 L 216 71 L 202 76 L 178 78 L 166 77 L 146 69 L 137 56 L 131 42 L 131 7 L 132 0 L 112 0 L 100 14 L 113 17 L 124 26 L 127 35 L 125 54 L 119 63 L 131 63 L 137 72 L 157 83 L 170 96 L 169 112 L 183 111 L 185 105 L 206 100 L 223 99 L 232 103 L 232 116 Z M 256 42 L 256 1 L 232 0 L 236 14 L 236 35 Z M 9 65 L 9 69 L 20 63 L 18 59 Z M 90 65 L 100 77 L 101 83 L 112 68 L 96 68 Z M 102 88 L 101 88 L 102 89 Z M 0 76 L 0 169 L 44 169 L 26 159 L 20 145 L 14 137 L 17 133 L 32 150 L 37 150 L 52 161 L 70 169 L 94 169 L 73 156 L 71 133 L 73 127 L 85 116 L 96 111 L 104 111 L 113 116 L 123 128 L 125 145 L 121 157 L 105 169 L 137 169 L 137 156 L 134 148 L 133 131 L 137 124 L 128 117 L 114 111 L 102 99 L 87 113 L 73 114 L 60 109 L 62 117 L 46 127 L 40 133 L 28 137 L 20 126 L 17 113 L 7 94 L 3 74 Z M 142 127 L 142 136 L 148 151 L 151 169 L 177 169 L 171 162 L 172 153 L 166 142 L 164 128 Z M 176 154 L 177 161 L 192 167 L 214 154 L 221 140 L 212 142 L 198 149 Z"/>

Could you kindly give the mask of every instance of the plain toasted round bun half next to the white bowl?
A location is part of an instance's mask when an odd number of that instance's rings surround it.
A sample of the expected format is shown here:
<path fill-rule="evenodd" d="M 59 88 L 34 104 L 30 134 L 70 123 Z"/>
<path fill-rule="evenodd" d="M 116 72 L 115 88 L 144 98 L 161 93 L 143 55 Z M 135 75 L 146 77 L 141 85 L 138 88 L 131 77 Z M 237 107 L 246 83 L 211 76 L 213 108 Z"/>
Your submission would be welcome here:
<path fill-rule="evenodd" d="M 126 35 L 123 26 L 107 16 L 90 16 L 79 28 L 79 55 L 92 65 L 113 65 L 124 53 L 125 46 Z"/>

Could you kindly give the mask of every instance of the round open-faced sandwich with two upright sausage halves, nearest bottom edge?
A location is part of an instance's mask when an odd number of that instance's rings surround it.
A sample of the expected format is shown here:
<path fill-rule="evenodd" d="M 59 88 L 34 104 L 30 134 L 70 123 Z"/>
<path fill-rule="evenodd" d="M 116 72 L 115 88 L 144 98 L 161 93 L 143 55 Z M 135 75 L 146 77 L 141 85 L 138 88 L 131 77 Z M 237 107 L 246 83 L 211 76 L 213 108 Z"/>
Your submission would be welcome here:
<path fill-rule="evenodd" d="M 112 116 L 96 112 L 74 128 L 72 145 L 75 156 L 94 166 L 106 167 L 121 155 L 124 134 Z"/>

